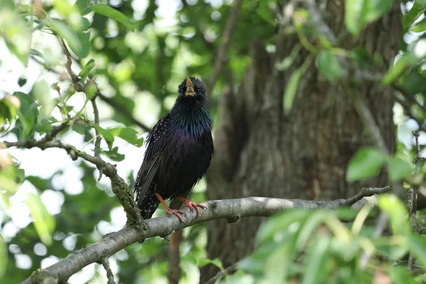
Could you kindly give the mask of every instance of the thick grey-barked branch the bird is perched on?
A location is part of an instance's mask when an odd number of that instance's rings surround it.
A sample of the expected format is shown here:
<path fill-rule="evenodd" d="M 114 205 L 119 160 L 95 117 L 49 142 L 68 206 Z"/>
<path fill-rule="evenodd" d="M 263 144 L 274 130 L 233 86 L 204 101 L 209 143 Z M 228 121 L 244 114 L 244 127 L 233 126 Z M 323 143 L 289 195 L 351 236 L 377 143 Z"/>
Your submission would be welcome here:
<path fill-rule="evenodd" d="M 58 263 L 53 264 L 45 269 L 39 269 L 31 278 L 23 281 L 22 283 L 35 283 L 33 277 L 40 278 L 39 273 L 44 273 L 46 277 L 50 276 L 58 281 L 66 281 L 71 275 L 80 271 L 84 266 L 91 263 L 102 261 L 102 258 L 109 257 L 130 246 L 136 241 L 143 241 L 144 239 L 153 236 L 168 236 L 173 231 L 207 222 L 213 219 L 226 219 L 228 222 L 236 222 L 242 217 L 268 217 L 271 214 L 288 209 L 305 208 L 305 209 L 336 209 L 342 206 L 354 204 L 356 201 L 361 200 L 363 197 L 368 197 L 376 193 L 388 192 L 390 187 L 383 187 L 382 189 L 370 188 L 363 189 L 361 193 L 348 200 L 333 200 L 333 201 L 312 201 L 312 200 L 284 200 L 278 198 L 266 197 L 247 197 L 235 200 L 212 200 L 204 202 L 207 207 L 203 210 L 200 217 L 195 212 L 190 212 L 189 208 L 183 209 L 185 214 L 185 223 L 175 216 L 166 215 L 154 219 L 144 220 L 146 226 L 144 230 L 133 229 L 131 226 L 125 226 L 120 231 L 109 234 L 102 241 L 84 247 L 78 251 L 70 253 L 69 256 L 63 258 Z"/>

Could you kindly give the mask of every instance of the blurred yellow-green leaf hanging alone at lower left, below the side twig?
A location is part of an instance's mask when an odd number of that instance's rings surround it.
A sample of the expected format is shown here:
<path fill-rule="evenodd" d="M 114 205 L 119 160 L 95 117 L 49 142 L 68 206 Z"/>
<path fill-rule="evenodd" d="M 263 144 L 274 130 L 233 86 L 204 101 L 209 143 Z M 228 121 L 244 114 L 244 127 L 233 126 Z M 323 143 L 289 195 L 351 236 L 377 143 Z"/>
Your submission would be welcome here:
<path fill-rule="evenodd" d="M 34 193 L 28 193 L 26 204 L 34 220 L 35 231 L 40 240 L 46 246 L 52 244 L 52 234 L 55 229 L 55 219 L 49 214 L 40 197 Z"/>

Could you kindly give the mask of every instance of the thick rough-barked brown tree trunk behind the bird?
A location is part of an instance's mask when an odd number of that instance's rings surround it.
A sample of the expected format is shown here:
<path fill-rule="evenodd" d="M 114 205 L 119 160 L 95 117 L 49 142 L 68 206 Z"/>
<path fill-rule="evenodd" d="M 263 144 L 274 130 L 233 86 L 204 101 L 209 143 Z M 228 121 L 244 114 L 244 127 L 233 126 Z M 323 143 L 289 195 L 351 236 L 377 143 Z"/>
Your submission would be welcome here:
<path fill-rule="evenodd" d="M 368 53 L 383 58 L 375 70 L 383 73 L 388 70 L 398 52 L 399 1 L 395 1 L 386 16 L 368 25 L 357 39 L 351 39 L 345 29 L 344 1 L 317 2 L 340 47 L 351 50 L 364 46 Z M 275 63 L 290 55 L 299 43 L 295 35 L 279 33 L 275 53 L 267 53 L 262 43 L 253 43 L 251 65 L 246 68 L 238 92 L 235 94 L 229 87 L 221 98 L 215 155 L 207 175 L 208 199 L 263 196 L 332 200 L 354 195 L 362 185 L 385 185 L 388 180 L 385 173 L 362 183 L 346 182 L 345 173 L 354 153 L 362 146 L 373 145 L 354 110 L 351 92 L 363 97 L 389 152 L 393 153 L 391 90 L 378 84 L 330 84 L 312 63 L 302 75 L 293 109 L 284 114 L 285 84 L 308 53 L 299 53 L 293 69 L 276 70 Z M 220 258 L 226 268 L 249 255 L 262 221 L 262 218 L 246 218 L 232 226 L 225 220 L 209 222 L 208 257 Z M 200 283 L 217 271 L 215 266 L 204 266 Z"/>

